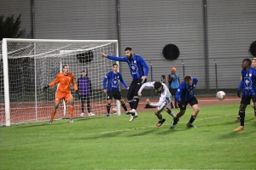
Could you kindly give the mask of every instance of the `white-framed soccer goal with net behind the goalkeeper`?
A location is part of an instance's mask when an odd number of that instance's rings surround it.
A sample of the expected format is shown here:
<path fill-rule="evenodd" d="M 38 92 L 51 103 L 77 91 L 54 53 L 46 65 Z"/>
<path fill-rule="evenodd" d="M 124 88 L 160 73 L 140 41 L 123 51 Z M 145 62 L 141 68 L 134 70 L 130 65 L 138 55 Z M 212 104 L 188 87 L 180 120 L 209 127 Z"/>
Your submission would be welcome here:
<path fill-rule="evenodd" d="M 69 65 L 75 82 L 86 71 L 92 84 L 90 97 L 91 112 L 105 116 L 106 94 L 102 90 L 105 75 L 112 71 L 113 62 L 101 54 L 118 56 L 117 40 L 49 40 L 49 39 L 3 39 L 0 65 L 0 125 L 48 121 L 53 110 L 55 90 L 43 87 L 62 71 L 62 65 Z M 73 117 L 79 117 L 81 103 L 74 93 Z M 68 118 L 68 105 L 61 103 L 55 119 Z M 117 107 L 120 115 L 119 103 Z M 87 116 L 86 103 L 84 114 Z"/>

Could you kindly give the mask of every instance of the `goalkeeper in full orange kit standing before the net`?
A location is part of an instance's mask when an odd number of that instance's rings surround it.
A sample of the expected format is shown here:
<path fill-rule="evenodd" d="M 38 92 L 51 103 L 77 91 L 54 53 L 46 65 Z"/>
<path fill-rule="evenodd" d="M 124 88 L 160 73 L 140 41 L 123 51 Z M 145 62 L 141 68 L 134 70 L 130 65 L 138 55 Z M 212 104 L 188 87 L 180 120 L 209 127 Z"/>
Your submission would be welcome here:
<path fill-rule="evenodd" d="M 70 91 L 70 83 L 72 83 L 73 88 L 76 90 L 76 94 L 79 95 L 79 89 L 76 83 L 74 82 L 73 73 L 69 72 L 69 66 L 63 65 L 62 67 L 63 71 L 59 73 L 55 80 L 53 82 L 50 82 L 47 86 L 44 86 L 44 90 L 47 88 L 55 86 L 55 84 L 58 84 L 56 94 L 55 94 L 55 105 L 54 105 L 54 111 L 52 111 L 49 124 L 53 122 L 53 119 L 55 117 L 56 111 L 60 105 L 61 99 L 65 99 L 65 102 L 69 105 L 69 114 L 70 114 L 70 122 L 73 122 L 73 96 Z"/>

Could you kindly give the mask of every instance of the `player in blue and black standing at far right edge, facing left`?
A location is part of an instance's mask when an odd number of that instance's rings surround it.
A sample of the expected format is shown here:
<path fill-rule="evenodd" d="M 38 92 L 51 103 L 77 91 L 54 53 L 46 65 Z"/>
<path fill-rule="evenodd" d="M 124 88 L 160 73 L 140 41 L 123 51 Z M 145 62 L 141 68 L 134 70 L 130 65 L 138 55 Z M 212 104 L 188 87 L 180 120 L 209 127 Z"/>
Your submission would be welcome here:
<path fill-rule="evenodd" d="M 241 104 L 239 107 L 240 127 L 234 129 L 234 131 L 244 130 L 244 117 L 247 105 L 250 104 L 250 100 L 253 99 L 254 103 L 254 116 L 256 116 L 256 70 L 251 67 L 251 59 L 243 59 L 241 63 L 241 82 L 237 90 L 237 96 L 240 98 L 240 91 L 242 90 Z"/>

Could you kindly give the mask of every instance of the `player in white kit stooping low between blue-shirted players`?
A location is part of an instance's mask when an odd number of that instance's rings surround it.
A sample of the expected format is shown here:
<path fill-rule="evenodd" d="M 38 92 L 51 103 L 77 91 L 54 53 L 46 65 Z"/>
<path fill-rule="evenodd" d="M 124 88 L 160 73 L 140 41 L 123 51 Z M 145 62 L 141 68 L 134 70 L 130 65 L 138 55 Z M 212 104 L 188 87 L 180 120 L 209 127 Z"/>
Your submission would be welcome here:
<path fill-rule="evenodd" d="M 150 103 L 150 100 L 147 99 L 147 105 L 157 107 L 154 111 L 155 116 L 159 119 L 159 121 L 156 123 L 157 127 L 160 127 L 164 122 L 166 122 L 166 119 L 161 115 L 162 111 L 166 111 L 169 115 L 173 117 L 173 119 L 176 118 L 176 115 L 172 112 L 171 109 L 167 107 L 167 105 L 170 105 L 172 102 L 172 94 L 170 94 L 168 87 L 165 83 L 162 82 L 146 82 L 143 83 L 143 86 L 139 89 L 137 95 L 142 96 L 143 88 L 145 87 L 152 87 L 154 88 L 155 92 L 160 94 L 160 99 L 158 103 Z"/>

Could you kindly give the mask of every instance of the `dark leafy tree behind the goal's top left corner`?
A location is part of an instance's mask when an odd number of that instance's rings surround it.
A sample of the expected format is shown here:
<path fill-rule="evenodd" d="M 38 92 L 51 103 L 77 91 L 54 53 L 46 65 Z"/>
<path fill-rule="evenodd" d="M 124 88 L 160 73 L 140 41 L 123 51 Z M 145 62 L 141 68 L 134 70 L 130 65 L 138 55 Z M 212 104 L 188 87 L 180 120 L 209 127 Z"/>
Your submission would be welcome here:
<path fill-rule="evenodd" d="M 4 15 L 0 15 L 0 40 L 3 38 L 17 38 L 20 37 L 22 31 L 20 31 L 20 16 L 15 20 L 14 15 L 9 16 L 6 20 L 3 20 Z"/>

